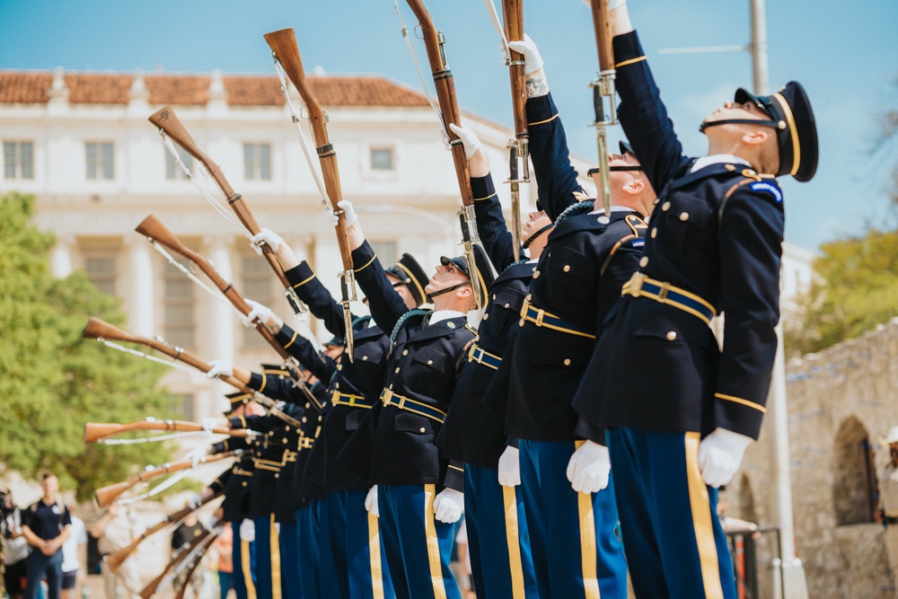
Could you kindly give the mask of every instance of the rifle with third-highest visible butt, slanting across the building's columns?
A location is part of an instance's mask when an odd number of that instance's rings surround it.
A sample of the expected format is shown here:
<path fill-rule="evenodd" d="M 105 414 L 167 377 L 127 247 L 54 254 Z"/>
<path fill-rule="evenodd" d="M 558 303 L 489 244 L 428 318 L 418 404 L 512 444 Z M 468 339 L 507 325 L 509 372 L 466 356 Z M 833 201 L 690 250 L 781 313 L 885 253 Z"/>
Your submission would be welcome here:
<path fill-rule="evenodd" d="M 207 260 L 206 258 L 200 256 L 196 251 L 190 250 L 186 245 L 180 242 L 177 236 L 174 233 L 169 231 L 165 226 L 153 215 L 147 216 L 140 225 L 136 226 L 136 232 L 145 235 L 147 239 L 150 240 L 151 243 L 159 243 L 165 248 L 168 248 L 171 251 L 179 253 L 184 258 L 190 260 L 194 264 L 196 264 L 200 270 L 202 270 L 207 277 L 212 281 L 212 283 L 218 287 L 218 290 L 222 292 L 223 295 L 228 299 L 229 302 L 235 307 L 238 312 L 240 312 L 243 316 L 248 316 L 251 313 L 252 309 L 250 304 L 246 303 L 246 300 L 237 291 L 236 287 L 227 280 L 225 277 L 222 277 L 218 274 L 218 271 L 214 266 Z M 290 353 L 280 344 L 280 342 L 275 339 L 275 336 L 271 333 L 268 326 L 264 322 L 260 322 L 260 320 L 256 319 L 252 322 L 252 326 L 255 327 L 256 330 L 259 331 L 260 335 L 268 341 L 269 345 L 277 351 L 277 354 L 284 360 L 284 366 L 287 370 L 290 371 L 290 375 L 293 377 L 294 384 L 297 388 L 300 389 L 304 393 L 307 399 L 313 401 L 313 403 L 317 404 L 315 401 L 315 396 L 311 391 L 309 391 L 308 386 L 303 382 L 302 374 L 299 371 L 299 364 L 296 362 L 295 357 L 291 356 Z"/>

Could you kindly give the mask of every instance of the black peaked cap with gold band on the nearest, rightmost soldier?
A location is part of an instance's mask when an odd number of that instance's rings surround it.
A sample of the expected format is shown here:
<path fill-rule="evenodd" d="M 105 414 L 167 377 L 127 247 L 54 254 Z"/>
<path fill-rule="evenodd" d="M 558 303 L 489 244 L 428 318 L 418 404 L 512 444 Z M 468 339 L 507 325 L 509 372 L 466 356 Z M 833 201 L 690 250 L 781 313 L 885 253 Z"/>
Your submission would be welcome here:
<path fill-rule="evenodd" d="M 797 181 L 810 181 L 817 171 L 817 125 L 811 101 L 801 84 L 790 81 L 769 96 L 756 96 L 739 88 L 735 101 L 753 102 L 774 121 L 779 145 L 779 170 L 776 175 L 792 175 Z"/>

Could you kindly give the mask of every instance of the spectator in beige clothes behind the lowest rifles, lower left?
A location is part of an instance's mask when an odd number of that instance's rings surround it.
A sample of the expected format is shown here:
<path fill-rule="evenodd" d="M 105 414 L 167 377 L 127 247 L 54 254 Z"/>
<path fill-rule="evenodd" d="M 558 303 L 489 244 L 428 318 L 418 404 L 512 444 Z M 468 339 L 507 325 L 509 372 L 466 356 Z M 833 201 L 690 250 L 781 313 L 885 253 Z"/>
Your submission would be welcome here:
<path fill-rule="evenodd" d="M 97 549 L 101 558 L 105 558 L 114 551 L 128 547 L 137 536 L 134 518 L 127 507 L 123 507 L 118 501 L 113 501 L 105 514 L 91 526 L 91 536 L 97 539 Z M 139 599 L 137 591 L 140 590 L 140 575 L 137 572 L 137 561 L 132 555 L 121 562 L 118 572 L 110 569 L 106 559 L 100 562 L 100 572 L 103 576 L 103 588 L 106 591 L 106 599 Z M 118 578 L 117 578 L 118 576 Z M 121 580 L 122 593 L 116 590 Z"/>

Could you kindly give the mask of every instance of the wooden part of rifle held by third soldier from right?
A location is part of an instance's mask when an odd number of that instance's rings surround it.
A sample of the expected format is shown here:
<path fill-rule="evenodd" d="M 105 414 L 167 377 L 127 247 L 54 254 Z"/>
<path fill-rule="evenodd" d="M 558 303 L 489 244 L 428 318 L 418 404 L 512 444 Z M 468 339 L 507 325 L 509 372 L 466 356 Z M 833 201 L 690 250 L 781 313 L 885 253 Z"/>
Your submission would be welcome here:
<path fill-rule="evenodd" d="M 408 0 L 411 11 L 418 17 L 421 26 L 421 35 L 427 48 L 427 61 L 434 77 L 436 97 L 443 112 L 443 127 L 449 141 L 452 144 L 452 158 L 455 164 L 455 177 L 458 179 L 458 187 L 462 192 L 462 204 L 472 206 L 474 195 L 471 192 L 471 173 L 468 172 L 468 160 L 464 156 L 462 140 L 449 128 L 449 123 L 462 124 L 461 112 L 458 109 L 458 101 L 455 99 L 455 83 L 453 75 L 446 65 L 445 52 L 443 51 L 442 33 L 436 31 L 433 19 L 424 6 L 422 0 Z"/>

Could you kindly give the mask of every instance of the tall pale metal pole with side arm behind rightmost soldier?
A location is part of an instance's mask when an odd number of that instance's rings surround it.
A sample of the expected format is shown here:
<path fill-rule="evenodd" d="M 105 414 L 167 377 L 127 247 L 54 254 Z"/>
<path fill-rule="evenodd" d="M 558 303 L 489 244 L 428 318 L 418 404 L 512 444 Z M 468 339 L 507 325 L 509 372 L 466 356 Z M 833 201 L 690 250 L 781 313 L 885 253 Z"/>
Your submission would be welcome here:
<path fill-rule="evenodd" d="M 662 54 L 695 54 L 748 50 L 752 53 L 753 89 L 756 95 L 770 93 L 767 60 L 767 13 L 765 0 L 750 0 L 752 42 L 748 46 L 715 46 L 704 48 L 662 49 Z M 801 559 L 795 555 L 795 520 L 792 509 L 792 471 L 789 454 L 788 402 L 786 397 L 786 358 L 783 353 L 782 321 L 776 328 L 777 355 L 768 395 L 767 436 L 770 462 L 776 494 L 776 517 L 780 532 L 779 549 L 782 560 L 772 564 L 773 596 L 777 599 L 807 599 L 807 581 Z M 780 596 L 780 592 L 783 593 Z"/>

